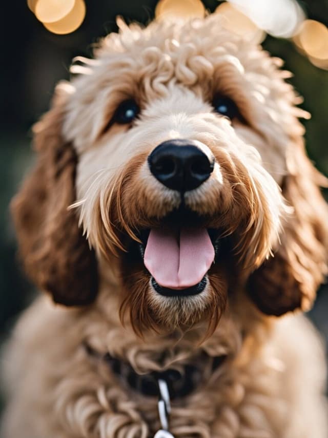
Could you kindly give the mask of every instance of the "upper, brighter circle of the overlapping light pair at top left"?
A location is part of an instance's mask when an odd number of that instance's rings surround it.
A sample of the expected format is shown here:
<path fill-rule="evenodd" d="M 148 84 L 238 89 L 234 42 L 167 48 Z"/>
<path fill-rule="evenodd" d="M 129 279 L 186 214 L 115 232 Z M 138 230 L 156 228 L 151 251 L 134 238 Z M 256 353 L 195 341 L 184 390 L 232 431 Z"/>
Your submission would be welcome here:
<path fill-rule="evenodd" d="M 74 0 L 38 0 L 36 18 L 43 23 L 54 23 L 65 17 L 74 7 Z"/>

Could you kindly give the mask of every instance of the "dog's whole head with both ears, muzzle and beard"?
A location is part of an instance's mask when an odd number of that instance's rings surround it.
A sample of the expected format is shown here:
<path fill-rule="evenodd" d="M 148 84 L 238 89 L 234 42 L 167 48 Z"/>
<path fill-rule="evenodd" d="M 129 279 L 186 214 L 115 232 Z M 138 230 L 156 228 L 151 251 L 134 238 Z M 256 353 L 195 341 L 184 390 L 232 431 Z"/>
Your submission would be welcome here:
<path fill-rule="evenodd" d="M 35 125 L 13 203 L 33 280 L 67 305 L 111 281 L 138 332 L 211 331 L 237 289 L 267 314 L 308 309 L 326 271 L 324 178 L 280 60 L 217 16 L 120 28 Z"/>

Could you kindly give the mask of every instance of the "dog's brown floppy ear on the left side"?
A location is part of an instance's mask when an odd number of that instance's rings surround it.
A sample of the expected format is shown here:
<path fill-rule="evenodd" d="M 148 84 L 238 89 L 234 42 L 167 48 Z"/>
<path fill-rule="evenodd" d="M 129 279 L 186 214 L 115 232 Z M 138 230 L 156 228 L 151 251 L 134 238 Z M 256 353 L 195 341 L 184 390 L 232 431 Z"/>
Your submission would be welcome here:
<path fill-rule="evenodd" d="M 66 306 L 97 293 L 97 266 L 74 210 L 77 157 L 61 137 L 66 93 L 57 87 L 52 109 L 34 125 L 37 162 L 12 201 L 19 253 L 36 285 Z"/>

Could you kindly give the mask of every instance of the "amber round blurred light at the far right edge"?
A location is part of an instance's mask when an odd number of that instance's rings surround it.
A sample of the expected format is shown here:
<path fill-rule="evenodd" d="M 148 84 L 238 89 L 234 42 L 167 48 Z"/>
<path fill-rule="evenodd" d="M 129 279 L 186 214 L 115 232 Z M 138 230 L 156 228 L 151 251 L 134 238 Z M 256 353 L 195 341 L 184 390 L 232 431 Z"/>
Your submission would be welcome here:
<path fill-rule="evenodd" d="M 328 29 L 315 20 L 306 20 L 300 27 L 297 41 L 305 52 L 318 60 L 328 59 Z"/>

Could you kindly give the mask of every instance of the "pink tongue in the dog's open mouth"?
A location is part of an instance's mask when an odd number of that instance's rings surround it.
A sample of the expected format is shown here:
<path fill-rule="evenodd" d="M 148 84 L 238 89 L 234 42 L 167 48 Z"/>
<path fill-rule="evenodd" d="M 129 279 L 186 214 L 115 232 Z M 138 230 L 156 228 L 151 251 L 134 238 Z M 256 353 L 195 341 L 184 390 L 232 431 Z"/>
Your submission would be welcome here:
<path fill-rule="evenodd" d="M 214 260 L 214 247 L 206 228 L 152 229 L 144 263 L 164 288 L 185 289 L 199 283 Z"/>

